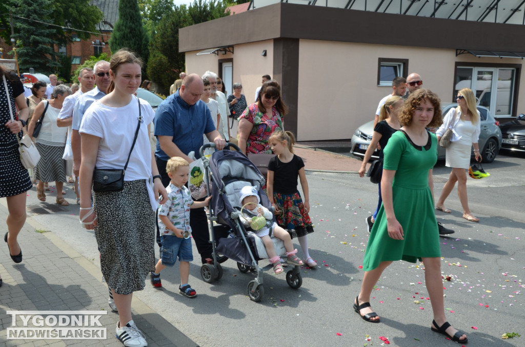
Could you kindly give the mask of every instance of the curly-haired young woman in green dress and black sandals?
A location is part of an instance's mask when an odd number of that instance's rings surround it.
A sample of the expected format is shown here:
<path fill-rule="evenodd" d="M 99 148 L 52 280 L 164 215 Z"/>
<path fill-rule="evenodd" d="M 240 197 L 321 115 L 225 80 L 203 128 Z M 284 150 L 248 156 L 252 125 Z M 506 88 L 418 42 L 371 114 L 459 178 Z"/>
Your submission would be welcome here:
<path fill-rule="evenodd" d="M 368 322 L 380 317 L 370 307 L 370 295 L 383 270 L 393 261 L 423 261 L 434 320 L 431 329 L 459 343 L 467 335 L 446 321 L 439 249 L 434 214 L 432 168 L 437 161 L 437 139 L 427 127 L 442 124 L 440 100 L 420 89 L 411 93 L 398 115 L 402 125 L 384 149 L 381 192 L 383 205 L 370 233 L 363 260 L 365 274 L 354 310 Z"/>

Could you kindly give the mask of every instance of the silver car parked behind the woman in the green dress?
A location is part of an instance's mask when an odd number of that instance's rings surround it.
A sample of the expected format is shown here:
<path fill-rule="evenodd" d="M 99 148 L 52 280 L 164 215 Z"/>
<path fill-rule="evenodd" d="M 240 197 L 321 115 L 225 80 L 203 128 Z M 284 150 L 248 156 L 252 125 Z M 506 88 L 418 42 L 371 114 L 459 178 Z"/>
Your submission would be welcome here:
<path fill-rule="evenodd" d="M 454 107 L 457 103 L 442 104 L 443 116 Z M 492 117 L 486 107 L 478 106 L 478 111 L 481 118 L 481 133 L 479 135 L 479 148 L 483 163 L 491 163 L 496 158 L 496 155 L 501 148 L 501 130 L 499 129 L 499 122 Z M 361 125 L 352 136 L 352 145 L 350 153 L 357 157 L 364 157 L 374 133 L 374 121 L 370 121 Z M 474 153 L 474 152 L 472 152 Z M 473 154 L 474 155 L 474 154 Z M 375 150 L 372 158 L 377 159 L 379 151 Z M 445 149 L 438 148 L 438 159 L 445 159 Z"/>

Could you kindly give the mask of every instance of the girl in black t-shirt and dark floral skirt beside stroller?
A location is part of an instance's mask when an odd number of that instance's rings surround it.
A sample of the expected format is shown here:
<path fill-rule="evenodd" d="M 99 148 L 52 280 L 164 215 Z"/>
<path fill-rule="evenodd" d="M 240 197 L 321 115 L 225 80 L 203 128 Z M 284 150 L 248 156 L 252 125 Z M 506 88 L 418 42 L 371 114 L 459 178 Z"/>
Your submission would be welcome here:
<path fill-rule="evenodd" d="M 268 164 L 268 198 L 277 214 L 277 223 L 288 230 L 291 238 L 296 236 L 304 255 L 304 263 L 309 267 L 317 266 L 310 257 L 306 235 L 313 233 L 308 212 L 310 202 L 308 181 L 304 173 L 304 162 L 293 154 L 295 137 L 289 131 L 278 130 L 269 139 L 271 150 L 277 154 Z M 297 190 L 297 178 L 301 182 L 304 202 Z M 295 250 L 297 252 L 297 249 Z"/>

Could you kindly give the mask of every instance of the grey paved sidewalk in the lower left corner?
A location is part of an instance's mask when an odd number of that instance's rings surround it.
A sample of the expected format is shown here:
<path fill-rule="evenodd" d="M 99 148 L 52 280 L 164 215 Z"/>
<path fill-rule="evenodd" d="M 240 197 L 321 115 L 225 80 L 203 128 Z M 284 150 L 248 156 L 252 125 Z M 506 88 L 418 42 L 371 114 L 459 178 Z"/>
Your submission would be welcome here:
<path fill-rule="evenodd" d="M 0 236 L 7 232 L 5 199 L 0 201 Z M 118 314 L 108 306 L 108 287 L 101 281 L 100 269 L 92 261 L 52 232 L 41 233 L 31 226 L 31 214 L 19 234 L 24 260 L 15 264 L 7 245 L 0 243 L 0 346 L 122 346 L 115 338 Z M 148 285 L 149 283 L 146 283 Z M 7 336 L 12 316 L 6 311 L 108 311 L 100 323 L 107 328 L 105 340 L 14 340 Z M 149 346 L 196 346 L 172 324 L 138 298 L 132 302 L 133 319 L 146 335 Z M 16 327 L 22 327 L 17 319 Z"/>

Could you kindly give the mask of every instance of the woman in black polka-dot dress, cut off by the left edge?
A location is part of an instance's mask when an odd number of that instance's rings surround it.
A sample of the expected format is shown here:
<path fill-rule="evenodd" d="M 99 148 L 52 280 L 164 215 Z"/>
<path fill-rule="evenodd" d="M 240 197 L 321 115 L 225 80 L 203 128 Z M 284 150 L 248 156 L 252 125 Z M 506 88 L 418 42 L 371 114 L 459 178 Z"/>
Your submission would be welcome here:
<path fill-rule="evenodd" d="M 22 128 L 29 117 L 29 110 L 24 98 L 22 82 L 12 74 L 7 74 L 0 66 L 0 197 L 7 199 L 7 233 L 4 241 L 9 248 L 9 255 L 14 262 L 22 261 L 22 249 L 17 236 L 26 221 L 26 192 L 31 189 L 31 180 L 27 169 L 20 161 L 18 138 L 22 138 Z M 6 89 L 7 87 L 7 89 Z M 13 111 L 11 121 L 9 103 Z M 18 116 L 16 115 L 18 107 Z M 0 278 L 0 286 L 2 279 Z"/>

